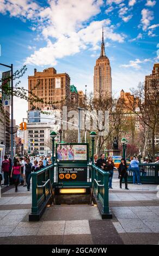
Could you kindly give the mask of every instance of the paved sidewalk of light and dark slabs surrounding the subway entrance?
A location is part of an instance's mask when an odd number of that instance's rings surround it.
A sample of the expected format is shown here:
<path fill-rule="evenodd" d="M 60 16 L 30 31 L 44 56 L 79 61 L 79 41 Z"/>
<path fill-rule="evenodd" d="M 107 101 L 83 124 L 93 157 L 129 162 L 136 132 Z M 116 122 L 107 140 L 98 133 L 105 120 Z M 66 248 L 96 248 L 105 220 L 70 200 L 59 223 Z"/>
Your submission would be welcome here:
<path fill-rule="evenodd" d="M 31 191 L 19 186 L 0 198 L 0 244 L 158 244 L 156 185 L 129 184 L 109 190 L 112 220 L 101 220 L 96 205 L 52 205 L 39 222 L 28 222 Z"/>

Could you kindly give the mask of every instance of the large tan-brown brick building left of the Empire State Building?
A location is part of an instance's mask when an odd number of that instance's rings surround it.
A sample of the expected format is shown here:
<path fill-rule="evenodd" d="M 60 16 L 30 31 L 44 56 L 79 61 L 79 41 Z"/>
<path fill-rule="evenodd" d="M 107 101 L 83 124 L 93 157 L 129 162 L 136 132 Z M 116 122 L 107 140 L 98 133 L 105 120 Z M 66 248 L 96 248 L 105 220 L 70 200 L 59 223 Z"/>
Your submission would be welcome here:
<path fill-rule="evenodd" d="M 34 69 L 34 76 L 28 76 L 28 90 L 45 101 L 34 103 L 35 107 L 43 109 L 49 105 L 61 108 L 70 101 L 70 76 L 66 73 L 57 74 L 54 68 L 45 69 L 43 72 L 36 72 Z M 31 109 L 29 103 L 28 110 Z"/>

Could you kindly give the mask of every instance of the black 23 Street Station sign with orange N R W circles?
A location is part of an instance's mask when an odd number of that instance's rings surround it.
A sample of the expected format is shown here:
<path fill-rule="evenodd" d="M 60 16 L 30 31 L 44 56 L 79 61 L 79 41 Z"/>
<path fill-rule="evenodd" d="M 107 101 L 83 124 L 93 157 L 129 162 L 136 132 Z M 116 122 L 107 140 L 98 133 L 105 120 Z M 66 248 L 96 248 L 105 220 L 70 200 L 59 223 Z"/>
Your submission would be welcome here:
<path fill-rule="evenodd" d="M 87 181 L 87 167 L 58 167 L 58 182 Z"/>

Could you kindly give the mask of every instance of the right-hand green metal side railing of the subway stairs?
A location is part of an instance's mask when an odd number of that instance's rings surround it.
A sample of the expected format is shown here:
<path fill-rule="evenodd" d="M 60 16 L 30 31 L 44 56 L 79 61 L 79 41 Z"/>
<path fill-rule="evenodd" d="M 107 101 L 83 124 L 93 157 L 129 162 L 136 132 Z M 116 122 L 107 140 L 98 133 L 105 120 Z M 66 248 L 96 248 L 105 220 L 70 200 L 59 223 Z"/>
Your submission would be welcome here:
<path fill-rule="evenodd" d="M 95 166 L 95 164 L 92 164 L 91 167 L 93 193 L 95 199 L 97 202 L 99 202 L 99 210 L 101 211 L 102 215 L 108 215 L 109 218 L 112 218 L 112 215 L 109 212 L 109 173 Z"/>

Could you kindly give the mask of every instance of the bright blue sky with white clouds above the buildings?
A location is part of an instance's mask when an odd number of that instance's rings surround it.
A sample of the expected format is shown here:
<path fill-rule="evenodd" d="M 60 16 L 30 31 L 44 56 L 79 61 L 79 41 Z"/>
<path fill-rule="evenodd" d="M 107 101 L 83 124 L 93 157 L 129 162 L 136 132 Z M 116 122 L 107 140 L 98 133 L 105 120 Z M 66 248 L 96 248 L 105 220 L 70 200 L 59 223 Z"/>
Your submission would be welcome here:
<path fill-rule="evenodd" d="M 34 68 L 68 73 L 77 90 L 93 91 L 102 26 L 112 68 L 113 95 L 143 82 L 159 62 L 157 0 L 0 0 L 0 63 L 27 65 L 21 86 Z M 157 52 L 158 50 L 158 52 Z M 157 55 L 158 53 L 158 55 Z M 0 66 L 0 76 L 5 68 Z M 27 117 L 25 100 L 14 100 L 16 124 Z"/>

